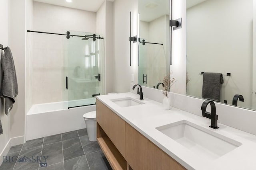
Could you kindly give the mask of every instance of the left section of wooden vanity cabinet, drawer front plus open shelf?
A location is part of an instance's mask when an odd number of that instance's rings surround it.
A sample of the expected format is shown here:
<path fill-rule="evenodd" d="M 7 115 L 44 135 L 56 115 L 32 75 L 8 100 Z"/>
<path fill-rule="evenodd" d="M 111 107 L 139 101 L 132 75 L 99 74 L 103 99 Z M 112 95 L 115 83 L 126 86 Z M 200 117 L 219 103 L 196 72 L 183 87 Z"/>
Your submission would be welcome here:
<path fill-rule="evenodd" d="M 113 169 L 126 169 L 126 122 L 116 113 L 96 102 L 97 141 Z"/>

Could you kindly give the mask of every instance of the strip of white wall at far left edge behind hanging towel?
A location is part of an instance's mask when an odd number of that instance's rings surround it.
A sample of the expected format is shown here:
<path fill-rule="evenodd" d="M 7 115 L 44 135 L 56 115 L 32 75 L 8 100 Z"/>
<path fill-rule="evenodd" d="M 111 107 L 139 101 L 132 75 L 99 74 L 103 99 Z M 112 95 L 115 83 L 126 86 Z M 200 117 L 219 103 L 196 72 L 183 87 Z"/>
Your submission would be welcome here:
<path fill-rule="evenodd" d="M 1 26 L 0 26 L 0 44 L 2 44 L 4 47 L 10 46 L 9 41 L 9 14 L 10 14 L 10 2 L 9 0 L 0 0 L 0 16 L 3 16 L 1 19 Z M 0 54 L 0 57 L 2 55 Z M 1 75 L 2 77 L 2 75 Z M 1 78 L 2 80 L 2 78 Z M 3 128 L 3 134 L 0 135 L 0 164 L 2 163 L 2 156 L 6 154 L 4 152 L 4 149 L 6 145 L 8 144 L 8 141 L 10 140 L 10 117 L 11 115 L 7 116 L 4 113 L 4 106 L 3 106 L 4 100 L 1 98 L 0 103 L 0 120 L 2 122 L 2 128 Z M 8 149 L 6 149 L 8 150 Z"/>

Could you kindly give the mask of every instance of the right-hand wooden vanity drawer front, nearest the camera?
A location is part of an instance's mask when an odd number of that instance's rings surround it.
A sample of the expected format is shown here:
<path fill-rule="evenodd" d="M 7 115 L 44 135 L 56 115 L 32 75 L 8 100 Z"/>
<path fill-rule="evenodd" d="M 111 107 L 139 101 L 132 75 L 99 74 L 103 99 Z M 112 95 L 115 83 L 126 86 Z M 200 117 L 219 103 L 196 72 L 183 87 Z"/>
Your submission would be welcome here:
<path fill-rule="evenodd" d="M 128 123 L 126 161 L 133 170 L 186 170 Z"/>

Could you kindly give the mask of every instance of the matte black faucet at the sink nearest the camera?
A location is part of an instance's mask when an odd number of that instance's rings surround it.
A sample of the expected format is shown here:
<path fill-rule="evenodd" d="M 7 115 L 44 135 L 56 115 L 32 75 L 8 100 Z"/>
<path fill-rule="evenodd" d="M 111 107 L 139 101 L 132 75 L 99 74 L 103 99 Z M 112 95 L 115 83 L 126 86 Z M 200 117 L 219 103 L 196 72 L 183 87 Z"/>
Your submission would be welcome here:
<path fill-rule="evenodd" d="M 211 105 L 211 113 L 206 111 L 206 107 L 209 103 Z M 217 125 L 218 115 L 216 115 L 216 107 L 215 107 L 214 102 L 212 102 L 210 100 L 205 100 L 201 106 L 201 110 L 202 110 L 203 117 L 207 117 L 207 118 L 211 119 L 211 125 L 209 127 L 213 128 L 213 129 L 218 129 L 219 128 Z"/>

